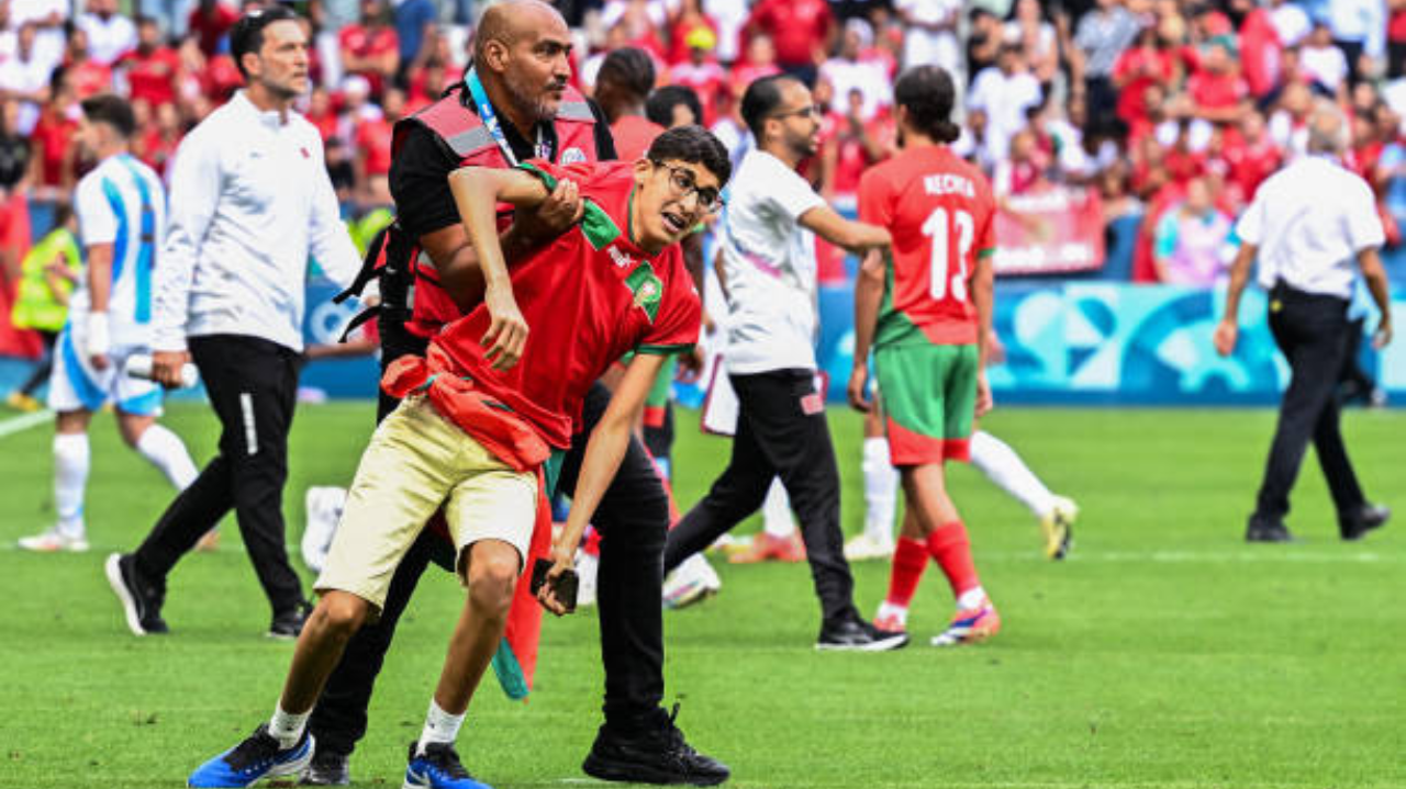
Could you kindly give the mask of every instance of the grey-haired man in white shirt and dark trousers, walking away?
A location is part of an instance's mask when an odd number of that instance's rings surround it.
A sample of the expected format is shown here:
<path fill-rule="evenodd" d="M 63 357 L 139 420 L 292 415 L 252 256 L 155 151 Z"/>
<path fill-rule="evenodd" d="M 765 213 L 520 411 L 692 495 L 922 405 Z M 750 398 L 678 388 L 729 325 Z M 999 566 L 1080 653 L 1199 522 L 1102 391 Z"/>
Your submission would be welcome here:
<path fill-rule="evenodd" d="M 1382 348 L 1392 338 L 1386 272 L 1376 251 L 1385 237 L 1382 222 L 1371 187 L 1339 161 L 1347 147 L 1344 132 L 1336 108 L 1315 112 L 1309 156 L 1261 184 L 1236 225 L 1243 246 L 1230 271 L 1216 351 L 1234 351 L 1240 293 L 1258 257 L 1258 281 L 1270 292 L 1270 331 L 1292 371 L 1246 529 L 1249 542 L 1294 539 L 1284 517 L 1309 439 L 1327 477 L 1343 539 L 1360 539 L 1391 515 L 1362 494 L 1339 428 L 1336 389 L 1347 355 L 1354 263 L 1382 314 L 1374 345 Z"/>

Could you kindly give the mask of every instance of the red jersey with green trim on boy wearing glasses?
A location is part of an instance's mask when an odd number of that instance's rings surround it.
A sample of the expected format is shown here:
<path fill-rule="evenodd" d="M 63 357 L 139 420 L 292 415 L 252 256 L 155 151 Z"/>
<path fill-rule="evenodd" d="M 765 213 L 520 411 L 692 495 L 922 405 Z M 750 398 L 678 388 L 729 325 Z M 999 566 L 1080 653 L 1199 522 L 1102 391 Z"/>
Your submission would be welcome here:
<path fill-rule="evenodd" d="M 524 170 L 555 188 L 569 178 L 586 208 L 581 222 L 513 264 L 513 295 L 527 321 L 522 359 L 495 371 L 484 358 L 488 307 L 479 305 L 434 337 L 479 390 L 526 418 L 553 446 L 571 445 L 591 385 L 627 352 L 675 354 L 697 343 L 702 303 L 678 244 L 650 256 L 630 240 L 633 161 L 571 166 L 531 160 Z"/>

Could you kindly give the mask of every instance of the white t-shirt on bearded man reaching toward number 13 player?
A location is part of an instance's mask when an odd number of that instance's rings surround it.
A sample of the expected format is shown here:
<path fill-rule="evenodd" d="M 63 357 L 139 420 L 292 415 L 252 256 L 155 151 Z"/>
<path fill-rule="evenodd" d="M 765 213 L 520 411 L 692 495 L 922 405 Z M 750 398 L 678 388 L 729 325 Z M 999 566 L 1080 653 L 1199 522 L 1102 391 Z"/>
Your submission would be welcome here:
<path fill-rule="evenodd" d="M 815 369 L 815 236 L 797 223 L 825 201 L 799 173 L 749 150 L 720 222 L 727 275 L 727 369 Z"/>

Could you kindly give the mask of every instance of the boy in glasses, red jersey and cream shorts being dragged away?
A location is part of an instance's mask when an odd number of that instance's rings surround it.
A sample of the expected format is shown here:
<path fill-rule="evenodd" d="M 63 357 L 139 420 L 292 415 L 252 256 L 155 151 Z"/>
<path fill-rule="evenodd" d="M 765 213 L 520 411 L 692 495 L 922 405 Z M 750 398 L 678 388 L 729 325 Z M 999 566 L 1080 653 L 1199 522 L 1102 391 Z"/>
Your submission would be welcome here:
<path fill-rule="evenodd" d="M 356 629 L 375 616 L 396 564 L 441 504 L 468 595 L 425 729 L 411 745 L 405 785 L 484 786 L 464 771 L 453 743 L 503 633 L 550 487 L 544 477 L 554 472 L 550 458 L 571 445 L 591 385 L 634 351 L 591 435 L 571 515 L 551 545 L 548 578 L 555 578 L 572 566 L 665 355 L 697 340 L 702 305 L 678 241 L 720 206 L 730 170 L 723 145 L 686 126 L 661 135 L 633 163 L 533 160 L 450 175 L 486 281 L 484 305 L 446 326 L 425 358 L 387 371 L 382 386 L 405 399 L 361 458 L 316 583 L 322 599 L 278 706 L 253 736 L 201 765 L 190 786 L 247 786 L 307 765 L 314 750 L 307 720 L 328 674 Z M 581 222 L 515 264 L 509 278 L 496 205 L 540 205 L 558 181 L 576 184 Z M 541 604 L 564 614 L 553 584 L 543 590 Z"/>

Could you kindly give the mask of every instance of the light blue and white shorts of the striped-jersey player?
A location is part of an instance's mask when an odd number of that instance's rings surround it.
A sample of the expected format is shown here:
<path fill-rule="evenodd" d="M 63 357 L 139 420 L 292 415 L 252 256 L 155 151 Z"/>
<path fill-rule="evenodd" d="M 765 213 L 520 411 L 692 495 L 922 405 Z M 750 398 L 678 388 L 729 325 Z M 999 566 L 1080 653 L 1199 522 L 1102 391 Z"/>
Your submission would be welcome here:
<path fill-rule="evenodd" d="M 149 354 L 146 345 L 118 344 L 114 337 L 107 369 L 93 369 L 82 336 L 69 321 L 53 344 L 53 372 L 49 375 L 49 409 L 55 411 L 97 411 L 112 403 L 117 410 L 139 417 L 162 414 L 162 386 L 122 373 L 132 354 Z"/>

